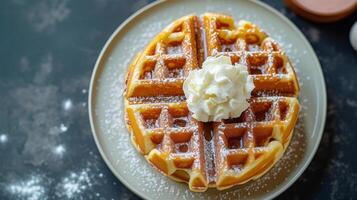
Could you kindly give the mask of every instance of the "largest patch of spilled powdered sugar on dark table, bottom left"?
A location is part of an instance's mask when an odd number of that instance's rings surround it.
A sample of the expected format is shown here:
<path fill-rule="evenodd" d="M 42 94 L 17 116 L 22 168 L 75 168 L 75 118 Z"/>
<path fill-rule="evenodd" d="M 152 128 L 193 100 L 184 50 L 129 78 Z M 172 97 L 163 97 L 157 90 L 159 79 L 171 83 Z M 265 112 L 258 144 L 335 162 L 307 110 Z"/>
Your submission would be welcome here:
<path fill-rule="evenodd" d="M 61 147 L 57 148 L 61 149 Z M 21 181 L 10 182 L 5 189 L 14 199 L 97 199 L 100 193 L 92 195 L 86 192 L 94 186 L 98 187 L 98 179 L 103 177 L 104 174 L 99 171 L 98 166 L 88 162 L 78 170 L 65 172 L 59 179 L 48 178 L 46 174 L 37 173 Z M 51 196 L 52 190 L 53 196 Z"/>

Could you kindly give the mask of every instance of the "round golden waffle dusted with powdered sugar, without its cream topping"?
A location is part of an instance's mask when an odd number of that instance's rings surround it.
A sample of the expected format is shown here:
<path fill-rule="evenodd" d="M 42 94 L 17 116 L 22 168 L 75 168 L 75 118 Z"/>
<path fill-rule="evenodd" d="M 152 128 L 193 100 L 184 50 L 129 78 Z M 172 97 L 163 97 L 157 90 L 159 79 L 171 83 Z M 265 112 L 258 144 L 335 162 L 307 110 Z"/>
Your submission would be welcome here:
<path fill-rule="evenodd" d="M 248 67 L 255 89 L 240 117 L 203 123 L 183 93 L 191 70 L 226 55 Z M 281 47 L 258 26 L 205 13 L 182 17 L 133 59 L 126 76 L 125 120 L 133 145 L 192 191 L 218 190 L 264 175 L 289 145 L 299 85 Z"/>

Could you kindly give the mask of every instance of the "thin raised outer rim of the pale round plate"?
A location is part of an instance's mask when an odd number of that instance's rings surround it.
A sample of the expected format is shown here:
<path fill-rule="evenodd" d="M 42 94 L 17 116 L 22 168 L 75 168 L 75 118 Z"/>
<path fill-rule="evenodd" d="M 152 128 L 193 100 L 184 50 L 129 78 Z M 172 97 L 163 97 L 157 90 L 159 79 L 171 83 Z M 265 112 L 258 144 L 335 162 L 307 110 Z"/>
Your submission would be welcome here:
<path fill-rule="evenodd" d="M 151 9 L 152 7 L 155 7 L 161 3 L 167 2 L 169 0 L 157 0 L 154 1 L 152 3 L 147 4 L 146 6 L 142 7 L 141 9 L 137 10 L 136 12 L 134 12 L 132 15 L 130 15 L 126 20 L 124 20 L 115 30 L 114 32 L 110 35 L 110 37 L 108 38 L 108 40 L 105 42 L 105 45 L 103 46 L 103 48 L 100 51 L 100 54 L 95 62 L 94 68 L 92 70 L 92 75 L 91 75 L 91 80 L 89 83 L 89 92 L 88 92 L 88 114 L 89 114 L 89 122 L 90 122 L 90 126 L 91 126 L 91 132 L 92 132 L 92 136 L 94 137 L 94 141 L 95 144 L 97 146 L 97 149 L 99 150 L 99 153 L 101 155 L 101 157 L 103 158 L 105 164 L 108 166 L 108 168 L 110 169 L 110 171 L 114 174 L 114 176 L 121 182 L 123 183 L 129 190 L 131 190 L 133 193 L 135 193 L 136 195 L 138 195 L 139 197 L 143 198 L 143 199 L 148 199 L 146 196 L 144 196 L 143 193 L 139 192 L 135 187 L 131 186 L 126 179 L 120 175 L 119 173 L 116 172 L 116 170 L 114 169 L 112 163 L 109 161 L 109 159 L 107 158 L 106 154 L 104 153 L 104 150 L 102 148 L 101 143 L 99 142 L 98 136 L 97 136 L 97 132 L 96 132 L 96 128 L 95 128 L 95 123 L 94 123 L 94 112 L 95 112 L 95 82 L 97 81 L 97 78 L 100 74 L 100 63 L 103 60 L 103 57 L 106 53 L 110 53 L 111 48 L 110 45 L 113 42 L 113 40 L 115 39 L 115 37 L 118 35 L 118 33 L 120 33 L 120 31 L 122 31 L 122 29 L 125 28 L 125 26 L 127 26 L 127 24 L 129 24 L 134 18 L 138 17 L 139 15 L 141 15 L 142 13 L 144 13 L 145 11 Z M 296 180 L 305 172 L 305 170 L 307 169 L 307 167 L 310 165 L 312 159 L 315 157 L 316 151 L 318 149 L 318 147 L 320 146 L 320 142 L 321 142 L 321 138 L 322 135 L 324 133 L 324 129 L 325 129 L 325 122 L 326 122 L 326 112 L 327 112 L 327 91 L 326 91 L 326 81 L 324 78 L 324 74 L 321 68 L 321 64 L 320 61 L 316 55 L 315 50 L 312 48 L 310 42 L 306 39 L 305 35 L 300 31 L 299 28 L 297 28 L 297 26 L 290 21 L 290 19 L 288 19 L 287 17 L 285 17 L 283 14 L 281 14 L 279 11 L 277 11 L 275 8 L 273 8 L 272 6 L 264 3 L 264 2 L 260 2 L 258 0 L 249 0 L 250 2 L 263 7 L 264 9 L 267 9 L 269 12 L 272 12 L 273 14 L 275 14 L 276 16 L 278 16 L 280 19 L 282 19 L 285 23 L 287 23 L 288 26 L 290 26 L 294 32 L 297 32 L 298 37 L 300 37 L 300 39 L 305 43 L 305 45 L 308 47 L 308 49 L 313 52 L 313 62 L 316 63 L 317 65 L 317 72 L 318 75 L 321 76 L 320 82 L 321 82 L 321 96 L 317 96 L 317 105 L 318 104 L 322 104 L 322 109 L 318 109 L 317 110 L 317 114 L 316 116 L 321 116 L 321 123 L 320 126 L 317 127 L 319 129 L 319 131 L 316 131 L 318 133 L 317 135 L 317 142 L 314 144 L 314 146 L 312 147 L 312 151 L 311 154 L 308 155 L 306 162 L 303 163 L 303 165 L 300 167 L 300 169 L 298 169 L 297 173 L 295 174 L 295 176 L 293 176 L 292 178 L 290 178 L 290 180 L 285 184 L 282 185 L 276 192 L 273 192 L 271 194 L 267 195 L 267 199 L 273 199 L 277 196 L 279 196 L 281 193 L 283 193 L 284 191 L 286 191 L 293 183 L 296 182 Z M 109 51 L 109 52 L 108 52 Z M 104 67 L 102 67 L 104 68 Z M 321 112 L 321 113 L 319 113 Z M 317 122 L 315 122 L 317 123 Z M 315 132 L 315 131 L 314 131 Z"/>

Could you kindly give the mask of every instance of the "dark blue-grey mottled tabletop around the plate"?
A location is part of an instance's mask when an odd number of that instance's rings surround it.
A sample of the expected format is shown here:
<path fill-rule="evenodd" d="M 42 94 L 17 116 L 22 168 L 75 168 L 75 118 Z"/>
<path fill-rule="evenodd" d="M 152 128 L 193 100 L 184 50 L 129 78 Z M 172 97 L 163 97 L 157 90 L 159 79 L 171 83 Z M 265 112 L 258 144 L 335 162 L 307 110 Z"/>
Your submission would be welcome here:
<path fill-rule="evenodd" d="M 147 0 L 11 0 L 0 4 L 0 199 L 138 199 L 109 171 L 91 135 L 87 99 L 104 43 Z M 327 122 L 305 173 L 278 199 L 357 198 L 356 14 L 315 24 L 280 1 L 315 49 Z"/>

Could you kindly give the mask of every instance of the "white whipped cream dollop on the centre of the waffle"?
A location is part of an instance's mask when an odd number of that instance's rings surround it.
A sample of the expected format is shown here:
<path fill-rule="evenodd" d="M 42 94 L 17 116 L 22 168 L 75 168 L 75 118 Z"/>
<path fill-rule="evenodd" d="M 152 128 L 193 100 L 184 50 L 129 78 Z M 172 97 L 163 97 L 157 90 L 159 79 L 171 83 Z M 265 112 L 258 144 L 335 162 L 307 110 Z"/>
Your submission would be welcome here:
<path fill-rule="evenodd" d="M 253 89 L 247 66 L 232 65 L 228 56 L 208 57 L 183 84 L 188 109 L 203 122 L 239 117 Z"/>

